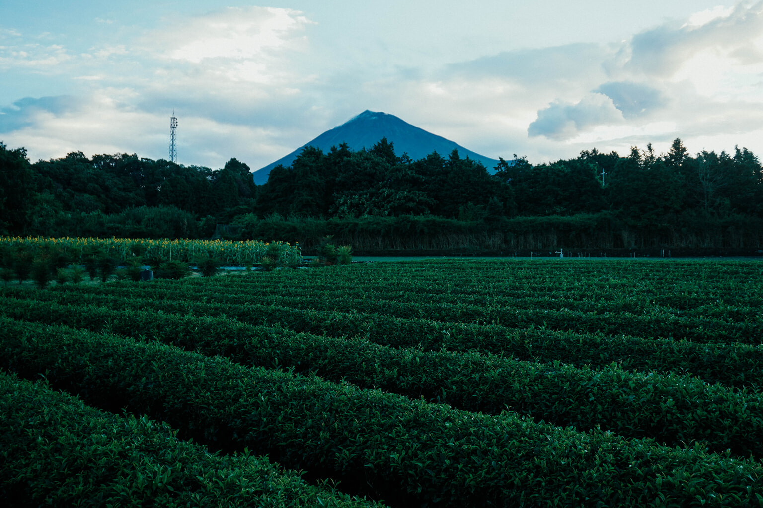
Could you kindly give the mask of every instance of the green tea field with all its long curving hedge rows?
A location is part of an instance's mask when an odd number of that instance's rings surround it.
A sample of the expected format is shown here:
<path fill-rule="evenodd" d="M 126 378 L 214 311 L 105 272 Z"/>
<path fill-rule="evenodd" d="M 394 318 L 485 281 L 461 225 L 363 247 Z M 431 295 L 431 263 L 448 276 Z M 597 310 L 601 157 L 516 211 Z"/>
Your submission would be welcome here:
<path fill-rule="evenodd" d="M 763 506 L 763 263 L 0 290 L 0 498 Z"/>

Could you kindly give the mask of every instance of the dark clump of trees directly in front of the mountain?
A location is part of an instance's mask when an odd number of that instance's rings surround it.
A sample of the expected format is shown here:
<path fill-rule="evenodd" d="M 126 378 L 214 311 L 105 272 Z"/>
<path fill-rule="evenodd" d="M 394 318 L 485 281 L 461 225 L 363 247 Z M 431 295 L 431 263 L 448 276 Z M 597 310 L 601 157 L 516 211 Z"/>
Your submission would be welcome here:
<path fill-rule="evenodd" d="M 508 207 L 505 208 L 504 207 Z M 490 209 L 494 216 L 513 213 L 510 184 L 484 166 L 436 152 L 413 161 L 394 153 L 387 139 L 369 150 L 347 145 L 327 154 L 307 147 L 288 168 L 270 172 L 260 189 L 256 212 L 266 216 L 420 216 L 458 218 L 469 210 Z M 470 216 L 469 218 L 473 218 Z"/>

